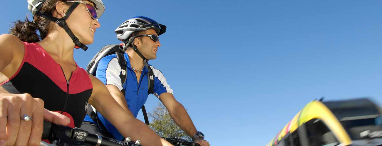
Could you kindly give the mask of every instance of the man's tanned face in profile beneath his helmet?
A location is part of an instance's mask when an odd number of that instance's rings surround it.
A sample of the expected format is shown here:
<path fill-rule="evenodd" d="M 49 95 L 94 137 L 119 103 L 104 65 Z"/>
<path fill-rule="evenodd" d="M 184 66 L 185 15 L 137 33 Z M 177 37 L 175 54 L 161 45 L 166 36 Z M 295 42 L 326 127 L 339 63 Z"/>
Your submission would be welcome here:
<path fill-rule="evenodd" d="M 145 32 L 145 34 L 155 34 L 156 36 L 158 36 L 157 32 L 154 29 L 149 29 Z M 159 41 L 155 42 L 149 36 L 142 36 L 141 44 L 138 47 L 138 50 L 144 57 L 151 60 L 157 58 L 158 47 L 160 47 Z"/>

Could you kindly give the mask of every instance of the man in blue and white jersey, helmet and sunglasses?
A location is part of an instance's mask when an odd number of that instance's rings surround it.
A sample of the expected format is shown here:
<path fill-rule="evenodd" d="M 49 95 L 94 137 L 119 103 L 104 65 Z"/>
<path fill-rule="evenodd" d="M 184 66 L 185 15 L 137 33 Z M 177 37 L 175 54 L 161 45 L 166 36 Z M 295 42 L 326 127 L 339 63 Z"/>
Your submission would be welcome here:
<path fill-rule="evenodd" d="M 196 130 L 183 105 L 175 100 L 173 90 L 167 84 L 163 74 L 147 64 L 148 60 L 157 58 L 156 53 L 160 47 L 158 36 L 165 30 L 166 26 L 143 16 L 125 21 L 115 30 L 115 33 L 117 33 L 117 38 L 123 42 L 123 47 L 120 48 L 125 52 L 123 57 L 126 60 L 126 70 L 120 66 L 117 55 L 112 54 L 100 59 L 95 76 L 104 82 L 115 101 L 134 117 L 137 117 L 148 94 L 154 94 L 168 109 L 174 122 L 190 135 L 195 143 L 209 146 L 209 143 L 203 140 L 203 133 Z M 154 74 L 153 76 L 151 76 L 150 70 Z M 122 75 L 126 78 L 121 78 Z M 122 79 L 126 79 L 126 81 L 124 82 Z M 150 88 L 149 81 L 154 82 L 151 89 L 147 88 Z M 101 114 L 97 114 L 97 116 L 100 123 L 87 115 L 81 128 L 92 131 L 91 129 L 97 129 L 96 126 L 99 126 L 98 128 L 101 130 L 95 130 L 96 133 L 112 135 L 117 140 L 124 139 L 104 116 Z M 89 128 L 91 126 L 93 127 Z"/>

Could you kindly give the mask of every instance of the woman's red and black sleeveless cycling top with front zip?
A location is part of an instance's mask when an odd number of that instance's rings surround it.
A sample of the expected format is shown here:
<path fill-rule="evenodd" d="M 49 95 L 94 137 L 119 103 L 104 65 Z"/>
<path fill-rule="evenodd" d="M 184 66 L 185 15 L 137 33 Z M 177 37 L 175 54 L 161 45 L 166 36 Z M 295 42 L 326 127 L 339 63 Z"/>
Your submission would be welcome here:
<path fill-rule="evenodd" d="M 66 81 L 63 70 L 37 43 L 24 42 L 25 54 L 18 71 L 1 83 L 8 92 L 29 93 L 44 100 L 45 109 L 63 112 L 70 127 L 81 127 L 92 93 L 92 83 L 83 68 L 78 67 Z"/>

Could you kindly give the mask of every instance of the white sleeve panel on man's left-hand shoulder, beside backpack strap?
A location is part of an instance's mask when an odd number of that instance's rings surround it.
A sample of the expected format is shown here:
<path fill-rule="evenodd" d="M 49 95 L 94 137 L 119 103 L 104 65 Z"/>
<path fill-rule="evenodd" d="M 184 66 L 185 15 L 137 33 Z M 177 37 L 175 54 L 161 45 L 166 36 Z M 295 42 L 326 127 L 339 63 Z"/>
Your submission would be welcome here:
<path fill-rule="evenodd" d="M 106 69 L 106 84 L 112 84 L 118 87 L 118 89 L 122 90 L 121 75 L 122 68 L 118 63 L 117 58 L 113 58 L 110 60 Z"/>

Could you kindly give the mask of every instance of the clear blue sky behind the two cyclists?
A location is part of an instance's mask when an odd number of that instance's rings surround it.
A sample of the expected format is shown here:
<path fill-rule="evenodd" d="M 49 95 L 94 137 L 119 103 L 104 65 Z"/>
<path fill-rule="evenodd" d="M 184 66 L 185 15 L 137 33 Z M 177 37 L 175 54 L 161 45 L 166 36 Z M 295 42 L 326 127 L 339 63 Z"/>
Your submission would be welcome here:
<path fill-rule="evenodd" d="M 382 1 L 104 0 L 85 68 L 133 16 L 167 25 L 159 68 L 212 146 L 265 145 L 305 104 L 372 97 L 382 105 Z M 28 13 L 2 1 L 0 32 Z M 159 102 L 150 96 L 146 108 Z M 139 114 L 140 119 L 143 119 Z"/>

